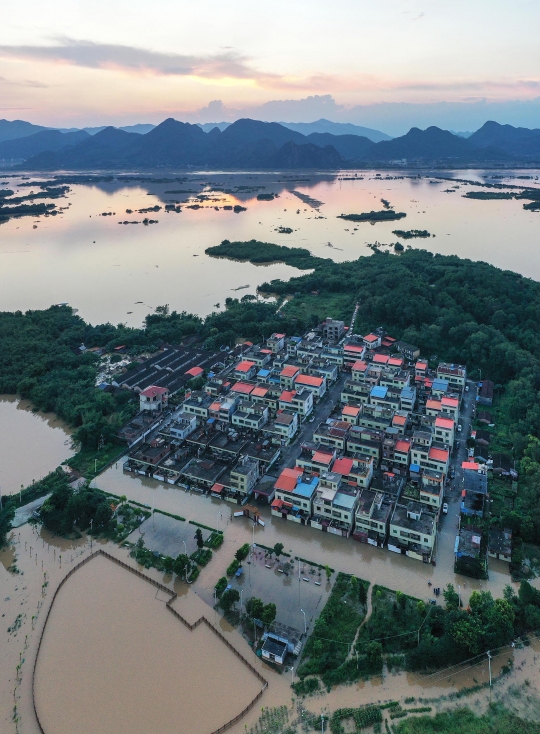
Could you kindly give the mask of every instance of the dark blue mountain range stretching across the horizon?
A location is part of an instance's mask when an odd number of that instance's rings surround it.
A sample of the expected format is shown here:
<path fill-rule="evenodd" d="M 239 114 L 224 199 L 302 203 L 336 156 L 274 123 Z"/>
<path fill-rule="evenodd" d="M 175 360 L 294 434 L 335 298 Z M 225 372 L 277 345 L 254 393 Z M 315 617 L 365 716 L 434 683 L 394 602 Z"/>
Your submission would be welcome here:
<path fill-rule="evenodd" d="M 305 135 L 277 122 L 247 118 L 223 130 L 216 126 L 205 132 L 200 125 L 169 118 L 145 134 L 114 127 L 94 135 L 84 130 L 62 133 L 40 129 L 1 142 L 2 158 L 24 160 L 16 166 L 19 169 L 43 171 L 207 166 L 331 170 L 374 164 L 530 164 L 540 162 L 540 130 L 486 122 L 468 138 L 429 127 L 412 128 L 398 138 L 373 142 L 357 134 Z"/>

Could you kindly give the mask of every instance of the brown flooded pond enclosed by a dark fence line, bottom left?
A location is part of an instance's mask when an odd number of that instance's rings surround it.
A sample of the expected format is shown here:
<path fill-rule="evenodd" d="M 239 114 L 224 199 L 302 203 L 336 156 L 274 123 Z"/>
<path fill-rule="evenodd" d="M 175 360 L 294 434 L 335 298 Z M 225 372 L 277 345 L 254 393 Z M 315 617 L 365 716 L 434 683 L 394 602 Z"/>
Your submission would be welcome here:
<path fill-rule="evenodd" d="M 206 625 L 191 632 L 177 620 L 168 598 L 103 557 L 69 579 L 36 668 L 46 734 L 206 734 L 249 705 L 262 683 Z"/>

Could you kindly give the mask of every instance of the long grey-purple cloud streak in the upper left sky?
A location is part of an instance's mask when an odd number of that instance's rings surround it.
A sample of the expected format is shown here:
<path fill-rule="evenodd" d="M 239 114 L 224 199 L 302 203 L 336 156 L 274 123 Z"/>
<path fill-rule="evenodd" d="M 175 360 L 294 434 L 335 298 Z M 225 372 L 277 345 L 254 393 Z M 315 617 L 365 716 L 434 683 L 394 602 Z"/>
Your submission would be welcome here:
<path fill-rule="evenodd" d="M 249 59 L 228 50 L 209 56 L 164 53 L 93 41 L 58 38 L 50 46 L 0 46 L 0 58 L 69 64 L 87 69 L 115 69 L 159 76 L 198 76 L 213 79 L 235 78 L 264 81 L 272 74 L 256 71 Z"/>

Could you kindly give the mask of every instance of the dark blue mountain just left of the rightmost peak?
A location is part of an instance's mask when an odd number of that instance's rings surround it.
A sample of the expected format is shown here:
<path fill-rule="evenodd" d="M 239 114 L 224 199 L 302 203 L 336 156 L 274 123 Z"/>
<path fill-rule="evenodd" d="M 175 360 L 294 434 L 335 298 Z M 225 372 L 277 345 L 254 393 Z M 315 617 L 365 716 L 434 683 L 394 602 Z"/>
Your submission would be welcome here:
<path fill-rule="evenodd" d="M 407 162 L 446 161 L 451 163 L 473 163 L 491 160 L 505 160 L 507 156 L 492 148 L 481 150 L 465 140 L 452 135 L 448 130 L 428 127 L 419 130 L 413 127 L 406 135 L 374 145 L 364 155 L 364 161 L 389 163 L 406 160 Z"/>

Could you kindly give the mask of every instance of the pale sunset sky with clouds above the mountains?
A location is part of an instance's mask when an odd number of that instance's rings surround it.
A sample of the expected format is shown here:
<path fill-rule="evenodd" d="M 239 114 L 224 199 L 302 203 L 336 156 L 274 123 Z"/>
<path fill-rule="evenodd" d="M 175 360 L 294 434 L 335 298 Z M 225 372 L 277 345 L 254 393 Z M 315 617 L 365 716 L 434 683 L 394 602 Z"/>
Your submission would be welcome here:
<path fill-rule="evenodd" d="M 5 0 L 0 117 L 540 127 L 538 0 Z"/>

